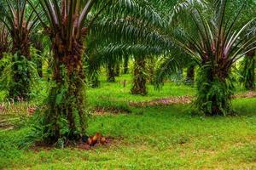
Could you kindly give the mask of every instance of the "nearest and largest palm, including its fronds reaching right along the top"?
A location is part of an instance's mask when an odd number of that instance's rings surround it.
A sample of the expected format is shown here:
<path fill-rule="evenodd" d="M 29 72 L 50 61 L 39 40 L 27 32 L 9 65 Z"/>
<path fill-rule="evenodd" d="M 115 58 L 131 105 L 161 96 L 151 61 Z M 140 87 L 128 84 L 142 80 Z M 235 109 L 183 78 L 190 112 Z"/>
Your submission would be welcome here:
<path fill-rule="evenodd" d="M 60 139 L 76 140 L 85 133 L 87 127 L 82 58 L 88 44 L 86 37 L 90 34 L 97 35 L 91 31 L 92 27 L 96 28 L 100 24 L 97 18 L 101 17 L 102 22 L 104 12 L 106 15 L 113 14 L 114 17 L 126 13 L 133 17 L 143 16 L 141 19 L 145 20 L 155 20 L 154 13 L 150 13 L 150 5 L 146 1 L 137 0 L 38 0 L 38 3 L 45 20 L 38 8 L 30 2 L 51 40 L 54 59 L 55 86 L 49 92 L 48 108 L 44 114 L 44 134 L 47 134 L 44 139 L 50 143 Z M 106 20 L 104 23 L 107 23 Z M 106 37 L 113 32 L 118 33 L 113 37 L 120 37 L 122 31 L 108 32 L 114 30 L 114 26 L 94 30 L 100 34 L 105 32 Z"/>

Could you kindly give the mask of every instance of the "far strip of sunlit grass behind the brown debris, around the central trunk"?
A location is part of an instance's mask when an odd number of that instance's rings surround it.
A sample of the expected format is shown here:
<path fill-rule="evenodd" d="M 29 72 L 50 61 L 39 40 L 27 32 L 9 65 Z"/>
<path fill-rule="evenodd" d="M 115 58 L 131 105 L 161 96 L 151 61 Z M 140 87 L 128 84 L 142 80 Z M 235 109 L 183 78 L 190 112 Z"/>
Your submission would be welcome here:
<path fill-rule="evenodd" d="M 195 88 L 185 85 L 175 85 L 173 82 L 166 82 L 165 86 L 160 90 L 154 89 L 154 86 L 147 84 L 148 95 L 131 95 L 131 75 L 123 75 L 117 77 L 116 82 L 106 82 L 106 77 L 101 77 L 100 88 L 88 88 L 88 102 L 90 105 L 96 105 L 102 100 L 111 100 L 118 103 L 127 103 L 129 101 L 147 101 L 152 99 L 160 99 L 172 96 L 195 95 Z M 124 80 L 126 85 L 124 87 Z M 90 97 L 93 96 L 93 97 Z"/>

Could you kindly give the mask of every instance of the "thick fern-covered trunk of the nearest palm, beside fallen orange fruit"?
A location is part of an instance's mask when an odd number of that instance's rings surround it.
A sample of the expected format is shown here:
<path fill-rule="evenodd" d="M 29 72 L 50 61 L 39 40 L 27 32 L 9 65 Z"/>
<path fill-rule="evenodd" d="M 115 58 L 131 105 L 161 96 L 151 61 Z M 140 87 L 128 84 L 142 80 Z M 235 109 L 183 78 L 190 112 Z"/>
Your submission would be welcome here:
<path fill-rule="evenodd" d="M 57 42 L 57 41 L 55 41 Z M 71 50 L 65 44 L 54 44 L 55 86 L 51 88 L 48 109 L 44 116 L 46 141 L 78 140 L 85 132 L 84 70 L 82 43 L 74 43 Z"/>

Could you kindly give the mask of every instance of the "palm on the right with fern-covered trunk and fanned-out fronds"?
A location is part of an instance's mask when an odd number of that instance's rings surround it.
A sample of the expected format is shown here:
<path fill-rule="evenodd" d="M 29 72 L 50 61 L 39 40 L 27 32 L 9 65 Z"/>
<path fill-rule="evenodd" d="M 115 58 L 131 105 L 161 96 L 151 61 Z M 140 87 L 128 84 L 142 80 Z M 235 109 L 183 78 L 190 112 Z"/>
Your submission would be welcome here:
<path fill-rule="evenodd" d="M 254 43 L 253 37 L 247 39 L 242 35 L 251 22 L 241 27 L 236 25 L 241 10 L 230 21 L 225 17 L 227 2 L 218 0 L 214 4 L 213 9 L 208 7 L 204 11 L 190 8 L 190 28 L 194 27 L 195 32 L 188 27 L 179 27 L 176 29 L 179 34 L 173 34 L 172 38 L 200 65 L 195 104 L 207 116 L 227 115 L 232 111 L 230 99 L 234 87 L 230 69 Z"/>

